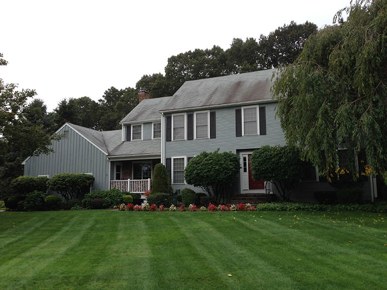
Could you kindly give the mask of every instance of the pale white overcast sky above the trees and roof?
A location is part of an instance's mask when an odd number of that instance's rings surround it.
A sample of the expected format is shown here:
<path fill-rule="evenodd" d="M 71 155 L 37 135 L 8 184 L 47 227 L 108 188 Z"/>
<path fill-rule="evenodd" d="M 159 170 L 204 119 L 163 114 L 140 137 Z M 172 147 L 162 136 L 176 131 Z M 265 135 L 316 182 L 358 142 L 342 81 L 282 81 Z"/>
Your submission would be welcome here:
<path fill-rule="evenodd" d="M 34 89 L 48 110 L 64 98 L 97 101 L 164 74 L 168 57 L 230 47 L 291 21 L 331 25 L 350 0 L 2 0 L 0 78 Z"/>

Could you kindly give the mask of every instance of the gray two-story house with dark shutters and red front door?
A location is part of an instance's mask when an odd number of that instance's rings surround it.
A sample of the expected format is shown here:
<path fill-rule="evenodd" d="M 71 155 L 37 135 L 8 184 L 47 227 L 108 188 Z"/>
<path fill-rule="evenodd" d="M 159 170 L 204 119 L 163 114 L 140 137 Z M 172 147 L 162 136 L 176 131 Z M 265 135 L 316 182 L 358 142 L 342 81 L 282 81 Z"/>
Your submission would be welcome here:
<path fill-rule="evenodd" d="M 150 99 L 141 91 L 139 105 L 121 120 L 120 130 L 100 132 L 66 123 L 57 131 L 63 138 L 53 142 L 54 152 L 26 159 L 24 174 L 89 173 L 96 180 L 93 189 L 143 193 L 161 162 L 172 187 L 181 190 L 190 186 L 184 180 L 189 159 L 219 148 L 240 157 L 235 194 L 265 193 L 268 184 L 252 179 L 249 156 L 265 145 L 286 143 L 270 92 L 273 72 L 188 81 L 171 97 Z M 299 184 L 292 198 L 315 201 L 313 192 L 318 190 L 332 187 L 319 182 L 318 172 L 311 168 L 308 181 Z M 363 191 L 365 199 L 373 200 L 372 179 Z"/>

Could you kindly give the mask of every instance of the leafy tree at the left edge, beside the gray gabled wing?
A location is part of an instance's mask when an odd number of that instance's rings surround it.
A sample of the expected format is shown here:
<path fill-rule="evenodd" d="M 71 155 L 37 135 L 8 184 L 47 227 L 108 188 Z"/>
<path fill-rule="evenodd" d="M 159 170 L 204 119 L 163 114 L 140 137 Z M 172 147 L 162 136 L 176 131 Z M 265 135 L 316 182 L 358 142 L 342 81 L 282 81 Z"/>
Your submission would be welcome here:
<path fill-rule="evenodd" d="M 7 62 L 2 59 L 0 64 Z M 35 94 L 34 90 L 18 91 L 17 85 L 0 79 L 0 195 L 7 194 L 11 180 L 23 173 L 22 161 L 50 152 L 51 140 L 56 138 L 45 131 L 39 115 L 28 106 Z"/>

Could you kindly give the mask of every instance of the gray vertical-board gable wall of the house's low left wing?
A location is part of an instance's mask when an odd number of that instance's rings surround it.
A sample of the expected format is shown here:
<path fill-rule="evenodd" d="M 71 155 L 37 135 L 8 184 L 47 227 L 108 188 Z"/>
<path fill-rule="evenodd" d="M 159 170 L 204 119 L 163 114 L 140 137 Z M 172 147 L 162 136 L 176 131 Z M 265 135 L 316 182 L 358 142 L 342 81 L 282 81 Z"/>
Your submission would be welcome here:
<path fill-rule="evenodd" d="M 48 175 L 60 173 L 92 173 L 93 189 L 109 189 L 109 163 L 106 155 L 79 135 L 68 125 L 59 134 L 69 130 L 69 139 L 53 141 L 53 153 L 30 157 L 24 166 L 24 175 Z"/>

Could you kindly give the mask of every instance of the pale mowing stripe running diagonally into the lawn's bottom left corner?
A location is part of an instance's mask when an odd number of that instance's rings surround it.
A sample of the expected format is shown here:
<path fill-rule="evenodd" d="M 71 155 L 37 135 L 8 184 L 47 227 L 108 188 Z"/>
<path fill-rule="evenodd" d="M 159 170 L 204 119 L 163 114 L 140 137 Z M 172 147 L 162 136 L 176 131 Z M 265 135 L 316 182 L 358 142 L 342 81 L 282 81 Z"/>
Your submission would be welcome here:
<path fill-rule="evenodd" d="M 79 222 L 78 216 L 74 215 L 71 220 L 63 225 L 61 229 L 49 236 L 44 241 L 31 247 L 28 251 L 10 260 L 8 263 L 0 266 L 0 272 L 4 273 L 5 279 L 11 288 L 28 289 L 31 280 L 40 273 L 45 272 L 50 268 L 50 264 L 62 256 L 70 248 L 77 245 L 84 236 L 87 229 L 93 224 L 93 220 L 89 220 L 83 224 L 83 227 L 74 227 Z M 66 241 L 62 240 L 63 236 L 69 237 Z M 10 269 L 17 268 L 12 272 L 13 275 L 7 275 Z M 14 285 L 14 286 L 13 286 Z"/>

